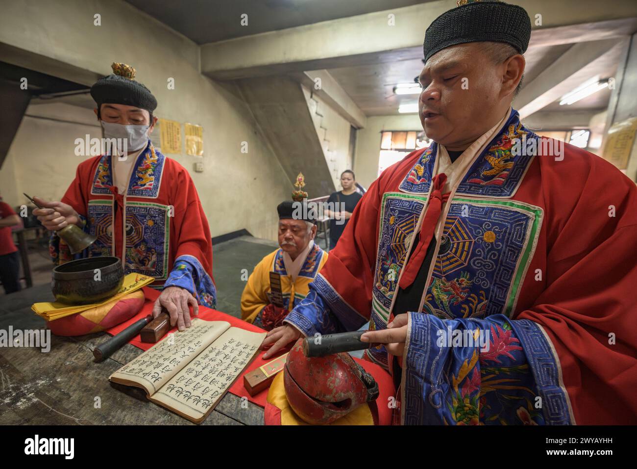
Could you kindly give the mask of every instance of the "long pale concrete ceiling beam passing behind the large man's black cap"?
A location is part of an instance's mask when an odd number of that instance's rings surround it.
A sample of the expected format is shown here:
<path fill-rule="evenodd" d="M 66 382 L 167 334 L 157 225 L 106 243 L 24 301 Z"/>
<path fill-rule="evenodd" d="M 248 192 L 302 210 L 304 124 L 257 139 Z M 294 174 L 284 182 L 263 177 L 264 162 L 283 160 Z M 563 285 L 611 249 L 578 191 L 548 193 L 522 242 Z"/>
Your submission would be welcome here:
<path fill-rule="evenodd" d="M 537 38 L 545 45 L 577 41 L 581 34 L 596 39 L 629 34 L 637 17 L 634 0 L 616 0 L 612 8 L 599 1 L 583 8 L 580 0 L 513 3 L 531 17 L 531 43 Z M 438 0 L 204 44 L 201 72 L 231 80 L 420 58 L 427 26 L 448 8 L 447 0 Z M 538 14 L 541 26 L 534 25 Z"/>

